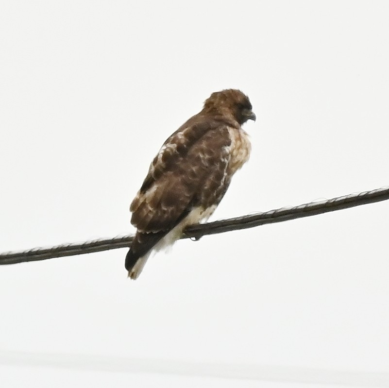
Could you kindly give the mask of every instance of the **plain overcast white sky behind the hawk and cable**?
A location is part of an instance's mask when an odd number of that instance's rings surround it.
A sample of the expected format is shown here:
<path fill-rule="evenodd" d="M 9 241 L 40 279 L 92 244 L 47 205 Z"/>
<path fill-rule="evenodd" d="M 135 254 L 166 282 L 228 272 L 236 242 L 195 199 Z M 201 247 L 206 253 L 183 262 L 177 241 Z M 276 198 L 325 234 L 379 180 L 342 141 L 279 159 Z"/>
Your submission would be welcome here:
<path fill-rule="evenodd" d="M 223 88 L 257 121 L 213 220 L 389 185 L 386 1 L 0 8 L 1 252 L 133 233 L 154 154 Z M 179 241 L 135 282 L 126 249 L 3 266 L 2 386 L 259 384 L 21 361 L 35 353 L 389 373 L 388 211 Z"/>

